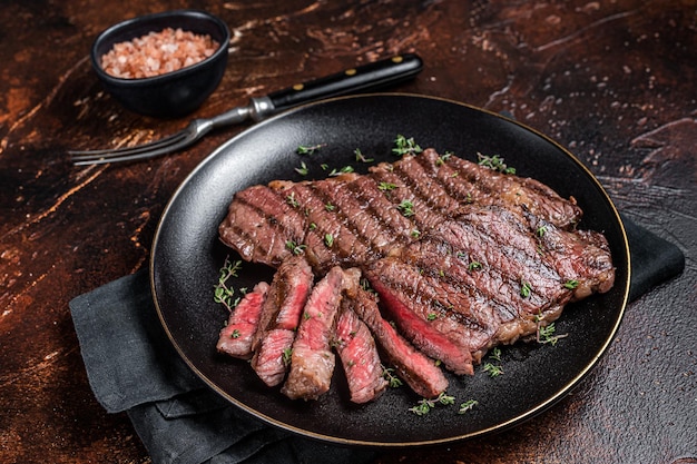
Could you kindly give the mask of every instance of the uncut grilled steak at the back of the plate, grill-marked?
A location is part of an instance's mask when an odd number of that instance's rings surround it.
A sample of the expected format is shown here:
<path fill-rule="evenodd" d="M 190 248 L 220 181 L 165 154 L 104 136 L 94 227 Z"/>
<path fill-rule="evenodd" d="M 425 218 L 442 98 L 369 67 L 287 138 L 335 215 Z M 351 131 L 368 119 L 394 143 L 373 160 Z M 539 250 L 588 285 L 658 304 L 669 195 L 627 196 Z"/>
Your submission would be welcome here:
<path fill-rule="evenodd" d="M 428 149 L 366 175 L 249 187 L 233 198 L 219 237 L 244 259 L 273 267 L 293 254 L 288 245 L 300 246 L 324 274 L 387 256 L 470 205 L 526 210 L 558 228 L 581 218 L 573 198 L 536 180 Z"/>

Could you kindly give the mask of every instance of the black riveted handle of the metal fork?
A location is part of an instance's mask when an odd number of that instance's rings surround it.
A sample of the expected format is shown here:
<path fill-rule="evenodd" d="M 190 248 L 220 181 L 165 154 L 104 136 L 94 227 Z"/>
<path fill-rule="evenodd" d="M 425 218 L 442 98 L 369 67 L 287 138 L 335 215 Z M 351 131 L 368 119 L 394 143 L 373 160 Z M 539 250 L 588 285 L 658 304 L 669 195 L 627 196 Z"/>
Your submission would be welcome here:
<path fill-rule="evenodd" d="M 267 97 L 275 110 L 284 110 L 323 98 L 376 90 L 410 79 L 422 69 L 423 61 L 418 55 L 397 55 L 308 82 L 296 83 Z"/>

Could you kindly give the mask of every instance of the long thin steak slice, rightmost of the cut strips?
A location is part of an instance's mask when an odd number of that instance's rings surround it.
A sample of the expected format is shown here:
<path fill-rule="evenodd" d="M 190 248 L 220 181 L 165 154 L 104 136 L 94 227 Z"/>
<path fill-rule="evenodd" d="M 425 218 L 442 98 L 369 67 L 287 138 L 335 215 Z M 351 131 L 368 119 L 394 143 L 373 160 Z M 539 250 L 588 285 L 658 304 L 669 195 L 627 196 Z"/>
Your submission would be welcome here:
<path fill-rule="evenodd" d="M 448 379 L 443 372 L 433 359 L 415 349 L 382 317 L 374 295 L 360 285 L 360 270 L 348 269 L 346 275 L 348 279 L 346 304 L 370 328 L 380 346 L 380 353 L 386 358 L 387 364 L 395 368 L 399 377 L 414 393 L 425 398 L 434 398 L 445 392 Z"/>

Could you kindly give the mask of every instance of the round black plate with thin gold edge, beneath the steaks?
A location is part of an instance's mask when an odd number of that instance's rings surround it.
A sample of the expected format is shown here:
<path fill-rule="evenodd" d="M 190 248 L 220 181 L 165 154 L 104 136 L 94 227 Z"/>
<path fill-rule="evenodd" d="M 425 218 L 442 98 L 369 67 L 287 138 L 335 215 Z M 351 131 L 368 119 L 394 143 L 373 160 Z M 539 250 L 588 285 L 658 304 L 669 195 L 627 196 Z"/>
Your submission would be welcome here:
<path fill-rule="evenodd" d="M 314 177 L 321 164 L 340 169 L 354 150 L 375 161 L 394 161 L 396 135 L 421 147 L 470 160 L 500 155 L 521 176 L 537 178 L 585 211 L 581 228 L 608 237 L 617 266 L 615 287 L 569 305 L 557 323 L 568 334 L 556 346 L 519 343 L 502 349 L 504 374 L 449 376 L 457 404 L 425 416 L 410 412 L 420 399 L 406 387 L 379 401 L 353 405 L 341 368 L 332 389 L 316 402 L 292 402 L 262 384 L 245 362 L 216 354 L 227 310 L 213 302 L 218 269 L 229 250 L 217 239 L 233 194 L 273 179 L 301 180 L 302 161 Z M 311 156 L 298 146 L 323 145 Z M 230 255 L 236 259 L 236 255 Z M 501 116 L 467 105 L 411 95 L 371 95 L 310 105 L 244 131 L 206 158 L 174 195 L 153 247 L 151 283 L 163 325 L 185 362 L 215 391 L 251 414 L 283 428 L 328 442 L 372 446 L 446 443 L 513 426 L 562 398 L 593 367 L 613 337 L 629 289 L 629 251 L 619 215 L 600 184 L 571 154 L 549 138 Z M 246 264 L 237 287 L 269 279 L 269 269 Z M 479 404 L 458 414 L 468 399 Z"/>

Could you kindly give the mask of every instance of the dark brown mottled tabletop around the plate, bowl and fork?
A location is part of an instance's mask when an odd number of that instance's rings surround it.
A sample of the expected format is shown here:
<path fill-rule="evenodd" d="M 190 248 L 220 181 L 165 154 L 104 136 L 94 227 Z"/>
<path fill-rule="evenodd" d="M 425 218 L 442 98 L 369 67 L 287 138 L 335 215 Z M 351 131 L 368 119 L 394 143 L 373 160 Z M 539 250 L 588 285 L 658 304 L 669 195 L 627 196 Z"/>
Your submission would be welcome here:
<path fill-rule="evenodd" d="M 187 6 L 234 31 L 227 73 L 195 116 L 415 51 L 424 71 L 395 90 L 512 113 L 686 255 L 679 277 L 628 306 L 607 355 L 557 406 L 499 435 L 393 450 L 380 463 L 697 463 L 695 0 L 3 1 L 0 462 L 150 462 L 127 416 L 96 402 L 68 302 L 147 266 L 178 184 L 248 125 L 128 166 L 73 167 L 66 149 L 184 126 L 121 109 L 87 57 L 108 26 Z"/>

